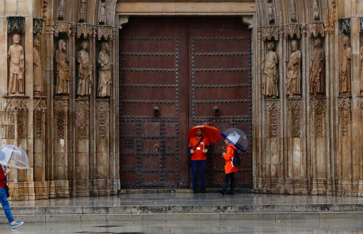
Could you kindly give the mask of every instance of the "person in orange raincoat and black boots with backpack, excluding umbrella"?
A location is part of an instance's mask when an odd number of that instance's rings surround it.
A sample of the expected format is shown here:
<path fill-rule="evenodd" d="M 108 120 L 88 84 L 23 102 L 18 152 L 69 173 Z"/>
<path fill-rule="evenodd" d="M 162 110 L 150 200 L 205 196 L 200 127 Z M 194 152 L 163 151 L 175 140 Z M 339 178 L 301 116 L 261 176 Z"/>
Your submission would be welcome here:
<path fill-rule="evenodd" d="M 224 143 L 227 145 L 226 152 L 223 153 L 222 155 L 222 157 L 226 160 L 226 164 L 224 165 L 224 172 L 226 175 L 225 175 L 223 189 L 218 190 L 223 195 L 225 190 L 227 189 L 229 178 L 231 178 L 231 190 L 229 190 L 226 194 L 234 194 L 234 172 L 238 171 L 237 166 L 234 166 L 232 162 L 234 156 L 234 150 L 237 150 L 236 146 L 234 146 L 232 143 L 230 143 L 227 140 L 224 140 Z"/>

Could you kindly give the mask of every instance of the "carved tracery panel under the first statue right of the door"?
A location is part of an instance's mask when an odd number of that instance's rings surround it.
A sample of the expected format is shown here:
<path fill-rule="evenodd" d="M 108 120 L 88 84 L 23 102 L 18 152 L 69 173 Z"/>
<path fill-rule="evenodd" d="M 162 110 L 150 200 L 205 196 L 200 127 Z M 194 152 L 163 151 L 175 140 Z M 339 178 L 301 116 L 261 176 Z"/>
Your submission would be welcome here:
<path fill-rule="evenodd" d="M 280 102 L 278 100 L 266 100 L 265 104 L 269 138 L 278 138 L 280 132 Z"/>

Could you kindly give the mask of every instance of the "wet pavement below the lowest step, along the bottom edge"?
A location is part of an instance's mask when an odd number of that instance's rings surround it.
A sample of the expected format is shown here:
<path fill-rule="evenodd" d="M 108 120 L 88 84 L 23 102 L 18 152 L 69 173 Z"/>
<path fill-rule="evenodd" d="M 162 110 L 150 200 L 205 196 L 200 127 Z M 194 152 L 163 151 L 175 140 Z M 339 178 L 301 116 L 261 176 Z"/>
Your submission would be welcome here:
<path fill-rule="evenodd" d="M 363 220 L 335 221 L 224 221 L 224 222 L 113 222 L 105 223 L 25 223 L 17 229 L 1 224 L 1 233 L 83 233 L 83 234 L 143 234 L 143 233 L 363 233 Z"/>

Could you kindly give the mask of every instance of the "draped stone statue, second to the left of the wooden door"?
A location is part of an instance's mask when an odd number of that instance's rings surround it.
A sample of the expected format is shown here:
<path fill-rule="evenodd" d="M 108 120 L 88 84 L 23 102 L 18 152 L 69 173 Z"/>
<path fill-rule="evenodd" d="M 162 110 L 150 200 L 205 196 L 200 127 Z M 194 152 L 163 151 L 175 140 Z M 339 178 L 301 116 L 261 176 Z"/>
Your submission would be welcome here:
<path fill-rule="evenodd" d="M 77 95 L 89 95 L 93 84 L 92 64 L 87 53 L 88 41 L 82 41 L 82 50 L 78 52 L 78 88 Z"/>

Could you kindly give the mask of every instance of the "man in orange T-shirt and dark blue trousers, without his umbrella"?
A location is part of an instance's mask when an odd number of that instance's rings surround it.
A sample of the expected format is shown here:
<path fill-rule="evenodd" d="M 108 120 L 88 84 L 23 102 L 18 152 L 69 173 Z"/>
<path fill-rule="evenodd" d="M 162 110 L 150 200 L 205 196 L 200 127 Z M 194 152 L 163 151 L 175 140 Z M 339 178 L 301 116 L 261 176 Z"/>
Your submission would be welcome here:
<path fill-rule="evenodd" d="M 189 141 L 188 151 L 192 154 L 192 176 L 193 176 L 193 193 L 197 192 L 198 182 L 197 174 L 200 173 L 201 193 L 205 193 L 205 167 L 207 166 L 207 155 L 209 150 L 209 141 L 203 137 L 203 129 L 197 129 L 197 136 L 192 137 Z"/>

